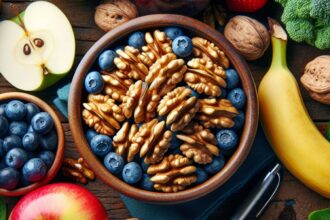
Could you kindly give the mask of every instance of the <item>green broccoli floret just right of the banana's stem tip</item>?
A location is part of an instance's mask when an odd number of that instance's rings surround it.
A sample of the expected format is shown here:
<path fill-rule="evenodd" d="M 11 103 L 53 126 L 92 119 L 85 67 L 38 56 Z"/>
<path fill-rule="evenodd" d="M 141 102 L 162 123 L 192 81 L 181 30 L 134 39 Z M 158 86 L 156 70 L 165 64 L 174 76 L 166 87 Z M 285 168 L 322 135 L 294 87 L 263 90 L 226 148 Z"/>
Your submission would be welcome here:
<path fill-rule="evenodd" d="M 294 19 L 286 23 L 286 30 L 292 40 L 296 42 L 306 41 L 313 45 L 315 40 L 314 25 L 307 19 Z"/>

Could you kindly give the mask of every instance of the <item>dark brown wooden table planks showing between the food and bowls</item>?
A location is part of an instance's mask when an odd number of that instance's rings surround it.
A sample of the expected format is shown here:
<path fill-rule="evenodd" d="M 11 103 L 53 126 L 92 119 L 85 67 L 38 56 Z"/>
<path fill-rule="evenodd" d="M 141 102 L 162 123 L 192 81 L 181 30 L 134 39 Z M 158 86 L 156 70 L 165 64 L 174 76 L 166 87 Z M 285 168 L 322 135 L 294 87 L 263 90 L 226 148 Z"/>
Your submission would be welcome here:
<path fill-rule="evenodd" d="M 0 0 L 1 2 L 1 0 Z M 32 0 L 4 0 L 2 8 L 0 9 L 0 20 L 8 19 L 15 16 L 15 7 L 20 11 L 24 10 L 25 7 L 32 2 Z M 53 1 L 69 18 L 76 37 L 76 58 L 75 65 L 72 68 L 72 77 L 75 67 L 86 53 L 86 51 L 98 40 L 104 33 L 95 26 L 94 23 L 94 9 L 98 1 L 93 0 L 55 0 Z M 15 7 L 13 7 L 13 5 Z M 264 10 L 261 14 L 262 18 L 267 16 L 279 17 L 280 8 L 270 3 L 268 9 Z M 320 51 L 313 47 L 305 44 L 296 44 L 289 42 L 288 45 L 288 65 L 296 78 L 299 79 L 303 73 L 303 69 L 307 62 L 322 54 L 330 54 L 330 50 Z M 268 50 L 266 55 L 254 62 L 250 62 L 250 70 L 253 74 L 256 84 L 258 85 L 263 74 L 267 71 L 271 60 L 271 51 Z M 62 81 L 62 84 L 64 82 Z M 301 86 L 301 84 L 300 84 Z M 322 105 L 318 102 L 313 101 L 301 87 L 303 98 L 307 109 L 322 132 L 325 131 L 326 122 L 330 120 L 330 106 Z M 0 93 L 16 91 L 6 80 L 0 76 Z M 51 104 L 51 99 L 55 97 L 55 92 L 39 92 L 35 95 L 42 97 L 48 103 Z M 66 136 L 66 151 L 65 156 L 78 157 L 78 153 L 75 149 L 71 137 L 71 131 L 69 129 L 68 121 L 62 119 L 63 127 Z M 285 123 L 285 122 L 284 122 Z M 55 181 L 60 181 L 60 177 Z M 107 209 L 109 217 L 111 219 L 126 219 L 130 218 L 129 212 L 125 208 L 124 204 L 119 198 L 119 194 L 112 190 L 110 187 L 102 183 L 100 180 L 90 182 L 86 185 L 86 188 L 92 193 L 97 195 Z M 240 195 L 236 195 L 239 197 Z M 18 198 L 6 198 L 9 205 L 9 210 Z M 306 219 L 309 212 L 330 207 L 330 200 L 325 199 L 316 193 L 306 188 L 300 183 L 295 177 L 290 175 L 287 171 L 284 172 L 283 182 L 280 186 L 279 192 L 266 209 L 261 219 L 279 219 L 280 213 L 285 207 L 286 201 L 295 201 L 293 205 L 297 219 Z M 223 216 L 224 210 L 219 210 L 214 213 L 210 219 L 220 219 Z M 283 218 L 282 218 L 283 219 Z"/>

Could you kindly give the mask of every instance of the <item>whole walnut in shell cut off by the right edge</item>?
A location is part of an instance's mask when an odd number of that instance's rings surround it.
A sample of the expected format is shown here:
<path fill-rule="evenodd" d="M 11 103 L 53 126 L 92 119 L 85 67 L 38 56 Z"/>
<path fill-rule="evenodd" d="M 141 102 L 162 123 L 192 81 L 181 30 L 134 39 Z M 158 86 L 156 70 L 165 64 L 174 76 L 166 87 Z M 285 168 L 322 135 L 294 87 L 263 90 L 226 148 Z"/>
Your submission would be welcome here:
<path fill-rule="evenodd" d="M 330 105 L 330 55 L 310 61 L 300 81 L 313 99 Z"/>

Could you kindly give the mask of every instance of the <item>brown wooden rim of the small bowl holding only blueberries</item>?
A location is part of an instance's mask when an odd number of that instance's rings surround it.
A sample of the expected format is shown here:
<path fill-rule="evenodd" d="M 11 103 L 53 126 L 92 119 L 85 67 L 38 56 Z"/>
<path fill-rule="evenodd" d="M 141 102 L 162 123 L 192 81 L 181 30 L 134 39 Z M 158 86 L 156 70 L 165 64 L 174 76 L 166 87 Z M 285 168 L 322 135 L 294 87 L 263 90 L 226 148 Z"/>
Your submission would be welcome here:
<path fill-rule="evenodd" d="M 57 151 L 53 165 L 48 170 L 46 176 L 41 181 L 15 190 L 6 190 L 0 188 L 1 196 L 22 196 L 27 194 L 28 192 L 31 192 L 32 190 L 35 190 L 49 183 L 56 176 L 57 172 L 61 168 L 63 155 L 64 155 L 64 131 L 62 128 L 61 121 L 58 118 L 55 111 L 46 102 L 42 101 L 41 99 L 33 95 L 29 95 L 21 92 L 8 92 L 8 93 L 0 94 L 0 102 L 10 101 L 13 99 L 21 100 L 23 102 L 32 102 L 36 104 L 40 108 L 40 110 L 44 112 L 48 112 L 52 116 L 58 136 L 58 145 L 57 145 Z"/>

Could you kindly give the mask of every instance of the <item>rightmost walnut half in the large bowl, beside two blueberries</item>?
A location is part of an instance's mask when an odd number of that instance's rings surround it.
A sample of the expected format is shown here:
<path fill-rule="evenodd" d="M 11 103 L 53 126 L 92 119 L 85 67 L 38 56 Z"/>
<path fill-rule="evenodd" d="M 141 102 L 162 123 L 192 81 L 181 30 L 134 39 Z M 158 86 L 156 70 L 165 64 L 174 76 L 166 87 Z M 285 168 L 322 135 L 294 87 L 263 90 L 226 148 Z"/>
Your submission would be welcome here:
<path fill-rule="evenodd" d="M 231 128 L 238 110 L 227 99 L 200 99 L 196 119 L 206 128 Z"/>

